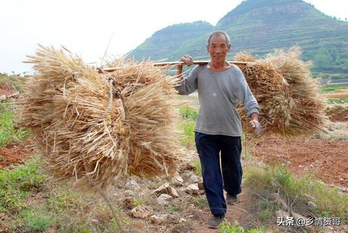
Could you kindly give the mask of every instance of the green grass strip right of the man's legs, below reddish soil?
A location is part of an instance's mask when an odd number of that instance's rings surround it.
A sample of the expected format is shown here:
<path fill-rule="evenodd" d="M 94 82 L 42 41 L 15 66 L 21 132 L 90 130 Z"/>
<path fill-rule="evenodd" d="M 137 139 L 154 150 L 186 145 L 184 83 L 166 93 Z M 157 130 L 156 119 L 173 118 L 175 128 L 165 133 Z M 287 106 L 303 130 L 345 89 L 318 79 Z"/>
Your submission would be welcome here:
<path fill-rule="evenodd" d="M 292 209 L 299 213 L 309 211 L 318 217 L 348 216 L 347 195 L 340 193 L 338 188 L 326 186 L 314 174 L 294 176 L 284 166 L 250 167 L 245 171 L 245 184 L 258 194 L 257 197 L 263 197 L 255 204 L 255 208 L 259 206 L 259 218 L 262 220 L 270 216 L 264 213 L 265 210 L 275 211 L 273 203 L 266 201 L 267 195 L 278 191 L 282 197 L 286 197 L 285 202 L 292 204 Z M 306 195 L 315 198 L 317 208 L 308 209 L 305 205 L 308 201 Z"/>

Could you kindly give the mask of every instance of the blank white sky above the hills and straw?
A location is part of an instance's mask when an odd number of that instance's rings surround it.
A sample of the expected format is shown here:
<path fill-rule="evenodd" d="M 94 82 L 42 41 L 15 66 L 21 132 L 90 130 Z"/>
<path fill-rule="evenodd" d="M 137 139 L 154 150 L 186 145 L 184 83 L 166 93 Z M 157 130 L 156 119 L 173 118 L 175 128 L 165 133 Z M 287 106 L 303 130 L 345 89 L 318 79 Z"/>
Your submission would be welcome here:
<path fill-rule="evenodd" d="M 347 0 L 305 1 L 326 15 L 348 18 Z M 32 72 L 32 65 L 22 61 L 34 54 L 38 43 L 63 45 L 85 62 L 98 65 L 111 37 L 107 54 L 122 55 L 171 24 L 204 20 L 215 25 L 239 3 L 241 0 L 0 0 L 0 73 Z"/>

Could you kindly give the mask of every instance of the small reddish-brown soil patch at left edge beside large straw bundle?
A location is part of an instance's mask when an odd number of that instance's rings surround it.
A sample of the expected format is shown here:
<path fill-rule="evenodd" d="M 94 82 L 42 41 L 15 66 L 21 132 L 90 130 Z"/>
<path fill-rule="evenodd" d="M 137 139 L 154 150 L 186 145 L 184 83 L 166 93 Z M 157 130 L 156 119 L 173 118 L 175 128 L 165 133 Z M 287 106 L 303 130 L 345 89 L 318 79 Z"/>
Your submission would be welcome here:
<path fill-rule="evenodd" d="M 24 160 L 34 153 L 33 140 L 8 143 L 0 147 L 0 169 L 12 164 L 24 163 Z"/>

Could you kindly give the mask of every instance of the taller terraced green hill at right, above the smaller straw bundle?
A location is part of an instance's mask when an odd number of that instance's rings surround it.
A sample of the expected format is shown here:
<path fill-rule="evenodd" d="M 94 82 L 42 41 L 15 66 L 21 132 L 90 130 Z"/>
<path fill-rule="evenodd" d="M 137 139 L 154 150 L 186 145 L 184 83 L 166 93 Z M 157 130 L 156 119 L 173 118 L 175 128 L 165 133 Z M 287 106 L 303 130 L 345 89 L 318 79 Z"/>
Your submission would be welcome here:
<path fill-rule="evenodd" d="M 334 20 L 301 0 L 243 1 L 215 29 L 232 35 L 240 50 L 255 54 L 300 45 L 314 59 L 320 47 L 348 49 L 348 22 Z"/>

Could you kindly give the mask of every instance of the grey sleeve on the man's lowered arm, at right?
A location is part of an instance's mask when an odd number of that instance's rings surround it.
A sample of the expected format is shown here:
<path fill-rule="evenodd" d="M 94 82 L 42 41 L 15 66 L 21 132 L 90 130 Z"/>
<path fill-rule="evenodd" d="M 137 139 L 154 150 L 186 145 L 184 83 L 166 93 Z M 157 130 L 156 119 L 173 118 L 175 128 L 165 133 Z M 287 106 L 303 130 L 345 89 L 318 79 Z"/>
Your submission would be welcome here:
<path fill-rule="evenodd" d="M 239 70 L 240 71 L 240 70 Z M 245 77 L 243 73 L 240 71 L 239 77 L 237 77 L 238 85 L 236 85 L 236 96 L 239 98 L 245 108 L 245 113 L 250 117 L 250 115 L 254 112 L 259 114 L 259 104 L 255 96 L 252 94 L 248 83 L 245 81 Z"/>

